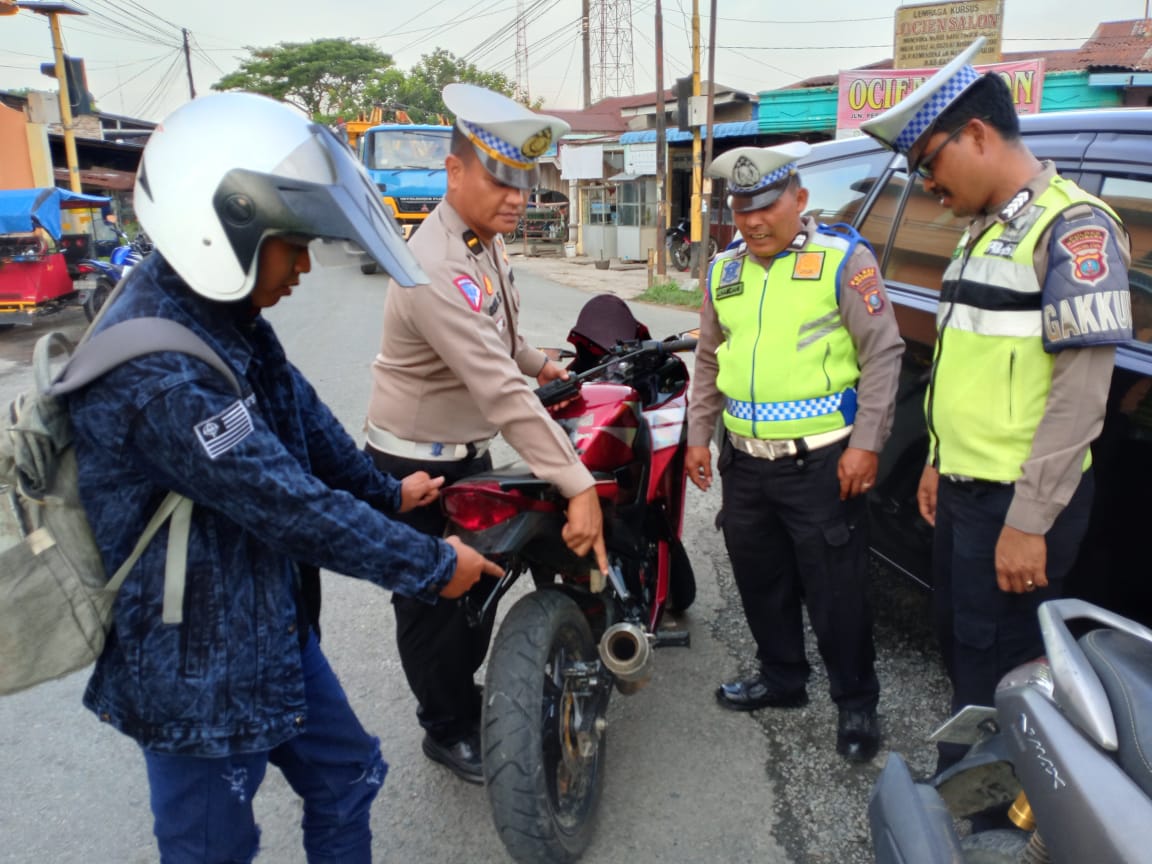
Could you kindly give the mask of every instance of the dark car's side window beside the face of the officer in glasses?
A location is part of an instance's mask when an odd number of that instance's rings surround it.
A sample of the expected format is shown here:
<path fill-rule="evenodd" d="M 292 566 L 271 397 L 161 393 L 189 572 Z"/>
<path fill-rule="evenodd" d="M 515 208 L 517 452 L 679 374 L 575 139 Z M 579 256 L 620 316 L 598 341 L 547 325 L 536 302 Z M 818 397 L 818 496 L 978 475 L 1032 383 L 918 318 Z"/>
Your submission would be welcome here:
<path fill-rule="evenodd" d="M 873 248 L 890 230 L 893 212 L 907 184 L 907 174 L 894 175 L 869 212 L 861 233 Z M 929 195 L 917 177 L 904 202 L 892 249 L 886 259 L 881 257 L 885 280 L 940 290 L 940 279 L 968 222 L 941 207 L 939 198 Z"/>

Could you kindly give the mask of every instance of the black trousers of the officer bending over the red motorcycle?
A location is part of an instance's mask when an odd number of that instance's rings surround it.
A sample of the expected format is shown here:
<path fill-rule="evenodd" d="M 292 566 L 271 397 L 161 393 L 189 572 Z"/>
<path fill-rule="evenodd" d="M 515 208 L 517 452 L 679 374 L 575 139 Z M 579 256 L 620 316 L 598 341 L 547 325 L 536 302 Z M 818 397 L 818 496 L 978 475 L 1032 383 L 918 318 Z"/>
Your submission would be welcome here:
<path fill-rule="evenodd" d="M 437 462 L 402 458 L 381 453 L 371 446 L 364 450 L 376 467 L 402 478 L 412 471 L 442 476 L 445 486 L 475 473 L 492 469 L 487 454 L 461 462 Z M 417 531 L 441 537 L 447 518 L 439 501 L 393 516 Z M 484 594 L 491 590 L 485 577 L 472 589 Z M 392 596 L 396 613 L 396 647 L 408 685 L 419 703 L 416 717 L 427 733 L 445 744 L 453 744 L 479 728 L 480 695 L 472 676 L 484 662 L 492 637 L 492 624 L 470 627 L 462 600 L 445 600 L 429 605 L 401 594 Z"/>

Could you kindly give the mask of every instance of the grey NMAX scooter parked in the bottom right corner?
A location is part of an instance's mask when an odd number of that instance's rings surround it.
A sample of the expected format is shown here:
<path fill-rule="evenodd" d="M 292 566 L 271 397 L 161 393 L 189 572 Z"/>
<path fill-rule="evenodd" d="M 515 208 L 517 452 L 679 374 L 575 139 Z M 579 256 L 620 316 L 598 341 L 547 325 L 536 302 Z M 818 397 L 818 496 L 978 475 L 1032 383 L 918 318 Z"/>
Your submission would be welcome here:
<path fill-rule="evenodd" d="M 970 743 L 962 761 L 915 783 L 888 758 L 869 804 L 880 864 L 1152 859 L 1152 630 L 1076 599 L 1039 619 L 1047 658 L 1006 675 L 995 708 L 968 706 L 933 734 Z M 1015 827 L 954 828 L 1006 808 Z"/>

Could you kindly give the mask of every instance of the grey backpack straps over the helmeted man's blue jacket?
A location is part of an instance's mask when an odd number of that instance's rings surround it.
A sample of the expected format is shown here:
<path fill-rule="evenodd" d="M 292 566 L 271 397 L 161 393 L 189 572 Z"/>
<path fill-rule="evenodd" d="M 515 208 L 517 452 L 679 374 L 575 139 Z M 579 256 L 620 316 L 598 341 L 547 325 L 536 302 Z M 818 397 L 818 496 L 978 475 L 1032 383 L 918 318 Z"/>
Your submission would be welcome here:
<path fill-rule="evenodd" d="M 77 391 L 116 366 L 145 354 L 180 351 L 207 363 L 228 380 L 237 396 L 241 399 L 244 396 L 236 374 L 220 355 L 188 327 L 168 318 L 131 318 L 89 336 L 76 348 L 71 359 L 53 381 L 50 367 L 54 344 L 65 348 L 70 346 L 62 334 L 53 333 L 37 342 L 32 357 L 37 387 L 47 395 L 59 396 Z M 179 624 L 183 621 L 188 540 L 192 523 L 192 500 L 179 492 L 169 491 L 165 495 L 144 531 L 141 532 L 128 560 L 120 564 L 104 590 L 112 594 L 120 590 L 129 571 L 139 561 L 144 550 L 165 522 L 169 524 L 164 566 L 161 620 L 166 624 Z"/>

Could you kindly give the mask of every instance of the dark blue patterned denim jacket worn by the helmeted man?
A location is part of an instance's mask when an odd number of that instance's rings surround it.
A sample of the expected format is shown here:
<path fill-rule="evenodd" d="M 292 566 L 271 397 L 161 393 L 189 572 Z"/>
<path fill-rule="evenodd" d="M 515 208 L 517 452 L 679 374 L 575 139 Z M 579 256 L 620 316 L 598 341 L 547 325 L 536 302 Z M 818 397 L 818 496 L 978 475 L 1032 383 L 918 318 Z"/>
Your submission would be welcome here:
<path fill-rule="evenodd" d="M 174 351 L 70 397 L 81 498 L 108 573 L 167 490 L 195 501 L 183 622 L 161 622 L 165 529 L 116 597 L 84 704 L 150 750 L 266 750 L 308 721 L 294 562 L 434 602 L 456 555 L 373 509 L 394 511 L 400 483 L 357 448 L 247 302 L 194 294 L 153 253 L 100 325 L 144 316 L 204 339 L 245 399 Z"/>

